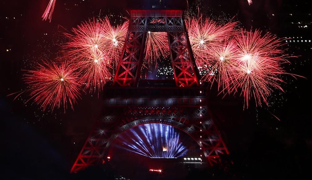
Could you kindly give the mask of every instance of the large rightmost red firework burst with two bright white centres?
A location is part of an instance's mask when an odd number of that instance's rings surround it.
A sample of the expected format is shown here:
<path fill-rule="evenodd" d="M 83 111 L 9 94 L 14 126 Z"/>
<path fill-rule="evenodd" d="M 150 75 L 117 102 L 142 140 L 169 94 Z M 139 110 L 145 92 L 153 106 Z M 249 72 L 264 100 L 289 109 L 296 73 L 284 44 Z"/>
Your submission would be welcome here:
<path fill-rule="evenodd" d="M 281 39 L 267 33 L 261 36 L 261 31 L 240 31 L 236 36 L 238 58 L 231 70 L 230 92 L 241 89 L 248 108 L 251 97 L 256 100 L 256 105 L 267 102 L 267 97 L 274 89 L 283 89 L 280 83 L 281 74 L 286 74 L 281 64 L 288 62 L 285 59 Z"/>

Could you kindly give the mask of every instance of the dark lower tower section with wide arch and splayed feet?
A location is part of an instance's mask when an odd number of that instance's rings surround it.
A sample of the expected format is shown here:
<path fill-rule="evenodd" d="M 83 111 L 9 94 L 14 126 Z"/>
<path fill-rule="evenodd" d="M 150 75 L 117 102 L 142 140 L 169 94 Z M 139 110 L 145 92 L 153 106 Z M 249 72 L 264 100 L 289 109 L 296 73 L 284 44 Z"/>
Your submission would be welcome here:
<path fill-rule="evenodd" d="M 176 127 L 190 135 L 211 165 L 228 154 L 208 111 L 205 88 L 104 88 L 104 113 L 86 140 L 71 172 L 97 165 L 120 133 L 147 123 Z"/>

